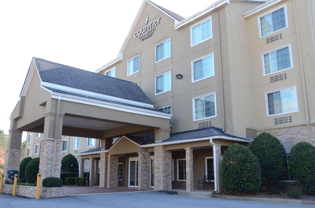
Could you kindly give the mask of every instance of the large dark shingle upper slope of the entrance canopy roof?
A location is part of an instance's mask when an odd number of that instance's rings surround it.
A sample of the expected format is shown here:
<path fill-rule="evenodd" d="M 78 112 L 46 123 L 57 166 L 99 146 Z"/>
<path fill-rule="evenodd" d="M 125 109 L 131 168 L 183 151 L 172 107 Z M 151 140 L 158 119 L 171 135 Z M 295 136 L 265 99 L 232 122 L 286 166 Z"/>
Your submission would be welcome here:
<path fill-rule="evenodd" d="M 34 61 L 43 82 L 153 104 L 136 83 L 69 67 L 40 58 L 34 57 Z"/>

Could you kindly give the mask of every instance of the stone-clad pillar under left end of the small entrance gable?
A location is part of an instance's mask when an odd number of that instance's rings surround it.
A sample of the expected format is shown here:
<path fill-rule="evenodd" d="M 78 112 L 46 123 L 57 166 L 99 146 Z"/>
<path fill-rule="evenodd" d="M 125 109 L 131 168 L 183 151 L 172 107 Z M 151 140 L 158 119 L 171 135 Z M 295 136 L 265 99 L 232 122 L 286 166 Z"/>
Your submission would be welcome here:
<path fill-rule="evenodd" d="M 107 188 L 118 187 L 118 155 L 108 155 Z"/>

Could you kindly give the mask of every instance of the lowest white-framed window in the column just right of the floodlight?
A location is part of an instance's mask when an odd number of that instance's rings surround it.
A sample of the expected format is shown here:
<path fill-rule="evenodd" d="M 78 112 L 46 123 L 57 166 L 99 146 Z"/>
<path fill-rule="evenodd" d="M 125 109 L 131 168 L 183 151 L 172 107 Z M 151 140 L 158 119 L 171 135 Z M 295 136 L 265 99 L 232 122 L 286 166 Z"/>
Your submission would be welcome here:
<path fill-rule="evenodd" d="M 216 117 L 215 92 L 192 98 L 192 108 L 193 121 Z"/>

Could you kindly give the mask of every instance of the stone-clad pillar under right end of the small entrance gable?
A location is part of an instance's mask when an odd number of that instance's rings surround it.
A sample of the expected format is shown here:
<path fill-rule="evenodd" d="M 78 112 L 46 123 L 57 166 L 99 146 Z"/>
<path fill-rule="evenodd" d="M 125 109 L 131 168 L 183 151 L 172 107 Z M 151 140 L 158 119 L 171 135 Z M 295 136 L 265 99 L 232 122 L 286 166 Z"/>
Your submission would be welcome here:
<path fill-rule="evenodd" d="M 150 189 L 150 152 L 138 152 L 138 189 Z"/>

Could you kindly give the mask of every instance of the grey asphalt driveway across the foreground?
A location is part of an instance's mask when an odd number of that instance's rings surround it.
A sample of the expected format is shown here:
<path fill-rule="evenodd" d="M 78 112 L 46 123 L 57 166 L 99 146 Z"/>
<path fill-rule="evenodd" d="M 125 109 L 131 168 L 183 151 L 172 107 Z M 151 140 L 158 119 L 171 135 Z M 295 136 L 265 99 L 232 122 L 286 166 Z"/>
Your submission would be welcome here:
<path fill-rule="evenodd" d="M 156 191 L 129 192 L 114 194 L 77 195 L 49 199 L 29 199 L 20 196 L 0 194 L 0 207 L 23 207 L 23 208 L 78 208 L 78 207 L 220 207 L 220 208 L 302 208 L 315 207 L 308 205 L 289 205 L 251 201 L 235 201 L 224 199 L 194 198 L 181 195 L 169 195 Z"/>

